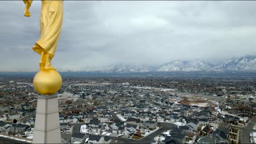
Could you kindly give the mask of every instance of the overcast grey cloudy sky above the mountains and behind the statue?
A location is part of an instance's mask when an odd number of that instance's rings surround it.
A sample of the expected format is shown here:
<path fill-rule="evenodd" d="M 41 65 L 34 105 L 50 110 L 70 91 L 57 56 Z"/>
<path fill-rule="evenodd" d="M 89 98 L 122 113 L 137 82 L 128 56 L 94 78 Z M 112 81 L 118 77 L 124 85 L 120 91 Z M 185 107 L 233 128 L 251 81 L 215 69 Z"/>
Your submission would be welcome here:
<path fill-rule="evenodd" d="M 37 71 L 41 1 L 23 15 L 22 1 L 0 2 L 0 71 Z M 58 70 L 114 63 L 158 65 L 175 60 L 256 53 L 256 1 L 64 1 L 53 65 Z"/>

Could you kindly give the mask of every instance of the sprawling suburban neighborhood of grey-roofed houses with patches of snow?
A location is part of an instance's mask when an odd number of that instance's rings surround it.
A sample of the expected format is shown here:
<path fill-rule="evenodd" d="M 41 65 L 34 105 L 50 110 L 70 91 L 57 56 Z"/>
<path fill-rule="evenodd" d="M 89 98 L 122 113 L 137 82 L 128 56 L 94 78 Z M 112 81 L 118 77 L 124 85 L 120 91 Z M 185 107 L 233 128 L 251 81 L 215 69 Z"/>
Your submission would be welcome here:
<path fill-rule="evenodd" d="M 24 79 L 0 80 L 1 136 L 32 142 L 38 94 Z M 215 95 L 137 81 L 66 78 L 56 93 L 62 143 L 255 143 L 255 87 Z"/>

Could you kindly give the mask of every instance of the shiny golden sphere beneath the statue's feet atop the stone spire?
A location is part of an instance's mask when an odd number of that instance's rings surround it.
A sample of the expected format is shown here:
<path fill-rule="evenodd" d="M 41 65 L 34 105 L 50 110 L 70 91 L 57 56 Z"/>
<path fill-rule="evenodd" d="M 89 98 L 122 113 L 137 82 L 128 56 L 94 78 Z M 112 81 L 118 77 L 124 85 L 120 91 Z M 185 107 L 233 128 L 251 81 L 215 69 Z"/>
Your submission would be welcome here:
<path fill-rule="evenodd" d="M 34 88 L 40 94 L 55 94 L 61 84 L 61 75 L 54 69 L 40 70 L 33 79 Z"/>

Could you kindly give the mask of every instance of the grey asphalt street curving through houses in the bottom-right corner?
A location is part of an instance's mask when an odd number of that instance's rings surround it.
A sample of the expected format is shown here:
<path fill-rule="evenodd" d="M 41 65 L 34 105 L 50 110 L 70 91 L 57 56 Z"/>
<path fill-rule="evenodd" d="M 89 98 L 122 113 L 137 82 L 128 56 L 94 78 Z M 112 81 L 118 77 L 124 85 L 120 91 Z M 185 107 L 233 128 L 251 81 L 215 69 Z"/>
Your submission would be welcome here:
<path fill-rule="evenodd" d="M 240 135 L 240 140 L 241 143 L 250 143 L 250 133 L 251 131 L 256 132 L 254 130 L 254 125 L 256 124 L 256 117 L 252 118 L 251 121 L 246 125 L 245 128 L 241 129 L 241 135 Z"/>

